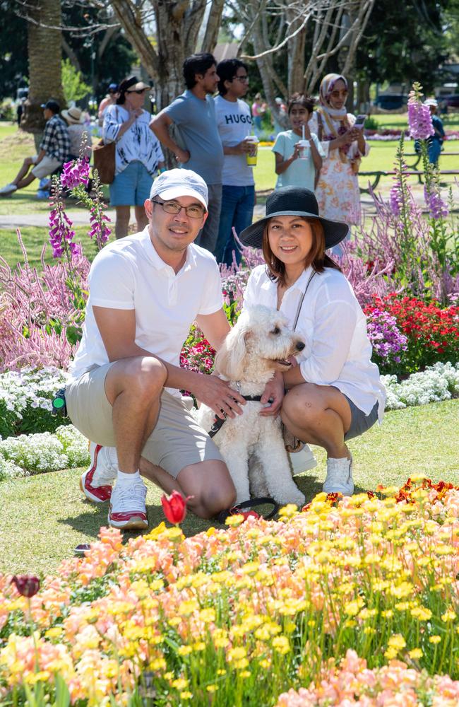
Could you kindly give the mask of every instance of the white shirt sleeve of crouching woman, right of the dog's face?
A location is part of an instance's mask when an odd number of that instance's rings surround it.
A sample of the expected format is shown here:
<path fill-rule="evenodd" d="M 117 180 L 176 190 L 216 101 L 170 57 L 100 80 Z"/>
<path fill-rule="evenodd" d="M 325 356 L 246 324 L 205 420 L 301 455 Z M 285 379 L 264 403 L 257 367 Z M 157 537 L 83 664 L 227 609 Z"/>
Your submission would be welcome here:
<path fill-rule="evenodd" d="M 311 355 L 299 364 L 299 368 L 306 382 L 333 385 L 349 356 L 357 312 L 345 300 L 316 306 Z"/>

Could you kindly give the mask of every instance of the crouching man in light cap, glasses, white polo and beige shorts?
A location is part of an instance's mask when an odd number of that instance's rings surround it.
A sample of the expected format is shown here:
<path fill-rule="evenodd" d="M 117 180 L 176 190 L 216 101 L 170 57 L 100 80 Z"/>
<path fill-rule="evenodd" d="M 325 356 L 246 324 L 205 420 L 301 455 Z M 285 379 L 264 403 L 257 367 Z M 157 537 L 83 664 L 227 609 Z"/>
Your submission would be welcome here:
<path fill-rule="evenodd" d="M 208 214 L 202 177 L 162 173 L 145 201 L 148 226 L 110 243 L 89 274 L 83 339 L 66 387 L 68 414 L 91 444 L 81 477 L 87 498 L 110 499 L 109 525 L 148 527 L 139 472 L 212 518 L 234 503 L 225 463 L 190 414 L 190 390 L 215 413 L 234 417 L 244 398 L 216 375 L 179 367 L 196 320 L 218 349 L 229 331 L 213 255 L 194 245 Z M 116 484 L 112 489 L 112 481 Z"/>

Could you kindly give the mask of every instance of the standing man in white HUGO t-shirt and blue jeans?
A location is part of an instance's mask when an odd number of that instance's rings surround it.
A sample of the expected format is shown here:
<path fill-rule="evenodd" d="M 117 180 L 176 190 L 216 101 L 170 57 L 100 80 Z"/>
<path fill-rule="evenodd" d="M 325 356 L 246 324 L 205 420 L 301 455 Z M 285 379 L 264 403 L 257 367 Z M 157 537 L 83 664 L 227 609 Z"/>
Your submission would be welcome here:
<path fill-rule="evenodd" d="M 232 229 L 239 235 L 252 223 L 255 204 L 254 168 L 247 165 L 251 146 L 246 138 L 252 132 L 250 108 L 242 99 L 249 89 L 246 64 L 225 59 L 217 66 L 218 93 L 214 98 L 218 132 L 223 145 L 222 209 L 214 255 L 217 262 L 237 262 L 241 254 Z"/>

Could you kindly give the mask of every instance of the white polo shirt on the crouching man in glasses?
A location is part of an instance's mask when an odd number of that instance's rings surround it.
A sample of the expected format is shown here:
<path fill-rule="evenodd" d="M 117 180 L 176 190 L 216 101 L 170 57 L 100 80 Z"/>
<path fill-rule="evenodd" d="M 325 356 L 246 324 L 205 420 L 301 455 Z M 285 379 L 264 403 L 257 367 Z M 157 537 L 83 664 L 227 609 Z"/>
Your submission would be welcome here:
<path fill-rule="evenodd" d="M 213 314 L 223 305 L 213 255 L 192 243 L 184 266 L 175 274 L 153 247 L 148 226 L 106 245 L 90 267 L 88 282 L 83 339 L 70 368 L 72 380 L 91 366 L 109 363 L 93 305 L 136 310 L 136 344 L 174 366 L 179 366 L 181 347 L 196 317 Z"/>

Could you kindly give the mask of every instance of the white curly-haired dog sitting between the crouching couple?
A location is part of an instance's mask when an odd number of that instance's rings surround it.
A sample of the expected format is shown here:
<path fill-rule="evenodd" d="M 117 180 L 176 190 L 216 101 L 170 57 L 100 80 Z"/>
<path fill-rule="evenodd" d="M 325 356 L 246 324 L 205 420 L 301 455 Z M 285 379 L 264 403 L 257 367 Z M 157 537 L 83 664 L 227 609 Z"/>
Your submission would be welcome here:
<path fill-rule="evenodd" d="M 242 312 L 215 357 L 215 369 L 241 395 L 262 395 L 276 370 L 291 365 L 287 358 L 304 349 L 304 341 L 287 328 L 277 310 L 258 305 Z M 213 438 L 236 487 L 237 503 L 269 495 L 278 503 L 304 504 L 292 479 L 280 429 L 280 418 L 260 416 L 261 402 L 246 402 L 242 415 L 227 417 Z M 206 405 L 197 412 L 201 427 L 210 431 L 215 413 Z"/>

